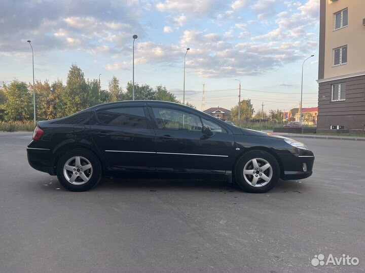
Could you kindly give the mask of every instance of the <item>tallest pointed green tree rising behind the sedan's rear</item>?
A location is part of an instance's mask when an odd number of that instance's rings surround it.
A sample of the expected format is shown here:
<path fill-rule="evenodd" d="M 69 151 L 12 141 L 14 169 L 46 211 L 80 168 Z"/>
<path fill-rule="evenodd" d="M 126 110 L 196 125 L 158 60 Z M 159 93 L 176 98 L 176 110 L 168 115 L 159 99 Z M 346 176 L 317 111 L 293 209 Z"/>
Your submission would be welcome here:
<path fill-rule="evenodd" d="M 62 94 L 66 115 L 79 112 L 89 106 L 89 89 L 84 73 L 75 64 L 71 65 L 67 75 L 66 88 Z"/>

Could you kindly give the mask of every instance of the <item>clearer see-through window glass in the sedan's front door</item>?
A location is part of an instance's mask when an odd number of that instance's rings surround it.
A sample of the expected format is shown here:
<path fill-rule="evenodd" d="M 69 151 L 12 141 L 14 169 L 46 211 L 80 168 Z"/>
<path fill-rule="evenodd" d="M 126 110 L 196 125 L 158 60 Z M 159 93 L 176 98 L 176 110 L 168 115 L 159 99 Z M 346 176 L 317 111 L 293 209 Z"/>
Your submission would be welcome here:
<path fill-rule="evenodd" d="M 202 123 L 196 115 L 168 108 L 153 108 L 159 129 L 201 131 Z"/>

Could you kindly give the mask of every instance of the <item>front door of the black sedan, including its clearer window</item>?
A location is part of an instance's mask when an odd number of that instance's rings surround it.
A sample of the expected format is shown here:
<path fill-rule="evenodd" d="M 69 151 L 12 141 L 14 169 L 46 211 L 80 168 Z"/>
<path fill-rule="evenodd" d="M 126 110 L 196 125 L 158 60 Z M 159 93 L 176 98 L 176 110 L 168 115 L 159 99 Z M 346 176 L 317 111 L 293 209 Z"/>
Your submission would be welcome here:
<path fill-rule="evenodd" d="M 224 173 L 231 169 L 231 132 L 182 107 L 152 105 L 149 109 L 155 123 L 157 170 Z M 202 122 L 213 128 L 212 136 L 202 133 Z"/>

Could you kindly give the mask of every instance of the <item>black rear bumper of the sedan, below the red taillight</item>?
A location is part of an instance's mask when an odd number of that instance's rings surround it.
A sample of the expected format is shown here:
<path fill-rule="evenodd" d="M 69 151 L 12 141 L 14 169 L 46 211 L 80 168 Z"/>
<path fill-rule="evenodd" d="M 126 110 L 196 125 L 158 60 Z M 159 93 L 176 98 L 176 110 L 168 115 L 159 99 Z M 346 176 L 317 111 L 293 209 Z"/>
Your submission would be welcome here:
<path fill-rule="evenodd" d="M 55 175 L 50 150 L 27 147 L 27 158 L 29 165 L 33 169 Z"/>

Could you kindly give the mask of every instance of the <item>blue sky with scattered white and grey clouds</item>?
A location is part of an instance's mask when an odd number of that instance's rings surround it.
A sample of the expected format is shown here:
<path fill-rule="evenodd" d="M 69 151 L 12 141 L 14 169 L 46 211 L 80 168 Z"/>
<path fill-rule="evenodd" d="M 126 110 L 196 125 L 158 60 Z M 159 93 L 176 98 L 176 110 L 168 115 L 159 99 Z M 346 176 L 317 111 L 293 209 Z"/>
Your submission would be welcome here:
<path fill-rule="evenodd" d="M 182 100 L 186 48 L 186 100 L 231 108 L 250 98 L 254 108 L 317 106 L 319 0 L 0 0 L 0 81 L 62 79 L 79 65 L 101 87 L 117 76 L 165 85 Z"/>

